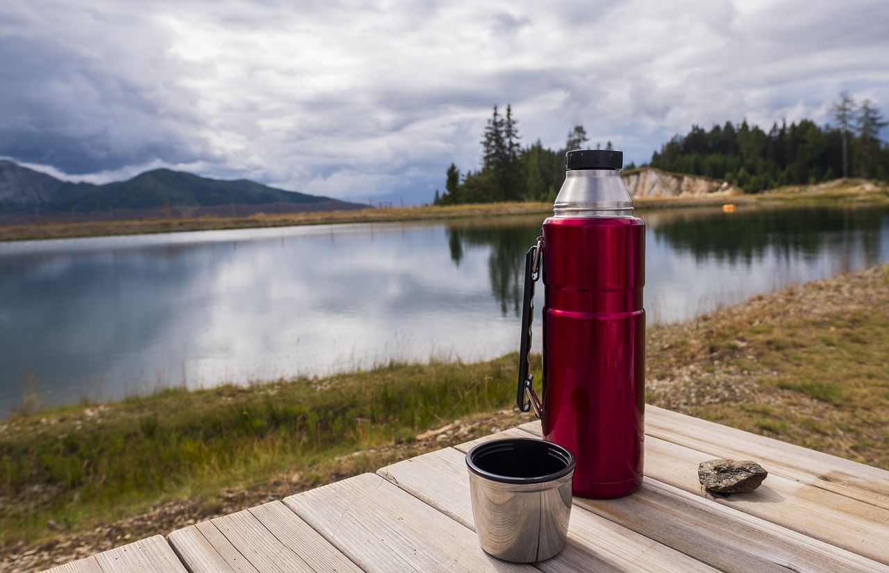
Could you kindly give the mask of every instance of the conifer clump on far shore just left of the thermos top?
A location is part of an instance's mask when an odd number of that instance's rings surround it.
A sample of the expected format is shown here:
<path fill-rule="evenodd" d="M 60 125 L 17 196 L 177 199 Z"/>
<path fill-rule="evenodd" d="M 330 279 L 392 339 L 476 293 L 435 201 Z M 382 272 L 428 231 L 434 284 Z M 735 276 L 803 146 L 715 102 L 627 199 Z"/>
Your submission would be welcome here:
<path fill-rule="evenodd" d="M 504 115 L 494 106 L 482 135 L 481 168 L 461 173 L 451 163 L 445 175 L 445 191 L 436 189 L 435 204 L 555 201 L 565 180 L 565 152 L 589 141 L 586 130 L 575 125 L 568 132 L 565 148 L 556 150 L 543 147 L 540 139 L 522 147 L 520 139 L 512 107 L 507 105 Z M 608 142 L 606 148 L 611 147 Z"/>

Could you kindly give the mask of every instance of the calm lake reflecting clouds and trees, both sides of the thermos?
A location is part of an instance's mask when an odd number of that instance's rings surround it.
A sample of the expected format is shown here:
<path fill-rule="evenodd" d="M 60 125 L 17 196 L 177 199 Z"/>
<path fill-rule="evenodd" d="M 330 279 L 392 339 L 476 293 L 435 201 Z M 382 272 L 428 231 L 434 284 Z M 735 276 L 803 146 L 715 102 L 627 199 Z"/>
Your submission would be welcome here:
<path fill-rule="evenodd" d="M 889 207 L 637 215 L 649 324 L 889 261 Z M 23 403 L 517 351 L 542 219 L 0 243 L 0 418 Z"/>

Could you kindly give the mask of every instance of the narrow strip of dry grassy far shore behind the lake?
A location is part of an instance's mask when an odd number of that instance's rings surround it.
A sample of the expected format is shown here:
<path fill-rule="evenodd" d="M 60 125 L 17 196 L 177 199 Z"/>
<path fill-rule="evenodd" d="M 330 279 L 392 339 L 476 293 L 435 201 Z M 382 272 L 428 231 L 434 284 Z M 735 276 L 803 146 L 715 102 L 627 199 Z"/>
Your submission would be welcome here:
<path fill-rule="evenodd" d="M 813 186 L 781 187 L 757 195 L 678 195 L 637 197 L 639 210 L 679 207 L 721 207 L 726 203 L 801 204 L 801 203 L 889 203 L 889 186 L 861 179 L 837 179 Z M 384 223 L 437 219 L 505 217 L 510 215 L 548 216 L 549 203 L 478 203 L 467 205 L 423 205 L 418 207 L 376 208 L 358 211 L 309 211 L 302 213 L 259 213 L 249 217 L 199 217 L 168 219 L 132 219 L 90 222 L 41 222 L 27 225 L 0 225 L 0 241 L 64 239 L 85 236 L 143 235 L 184 231 L 209 231 L 261 227 L 294 227 L 343 223 Z"/>

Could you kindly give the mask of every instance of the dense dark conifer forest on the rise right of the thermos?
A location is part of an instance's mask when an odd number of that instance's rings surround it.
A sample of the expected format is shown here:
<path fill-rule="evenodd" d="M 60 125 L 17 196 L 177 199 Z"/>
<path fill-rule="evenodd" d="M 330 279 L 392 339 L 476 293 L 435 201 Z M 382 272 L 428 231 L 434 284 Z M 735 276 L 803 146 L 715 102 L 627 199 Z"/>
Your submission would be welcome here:
<path fill-rule="evenodd" d="M 889 180 L 889 147 L 877 135 L 886 125 L 879 109 L 865 99 L 860 105 L 847 92 L 831 107 L 837 125 L 811 120 L 773 123 L 766 132 L 745 120 L 726 122 L 709 131 L 693 125 L 652 156 L 663 171 L 725 179 L 747 193 L 782 185 L 805 185 L 847 178 Z"/>

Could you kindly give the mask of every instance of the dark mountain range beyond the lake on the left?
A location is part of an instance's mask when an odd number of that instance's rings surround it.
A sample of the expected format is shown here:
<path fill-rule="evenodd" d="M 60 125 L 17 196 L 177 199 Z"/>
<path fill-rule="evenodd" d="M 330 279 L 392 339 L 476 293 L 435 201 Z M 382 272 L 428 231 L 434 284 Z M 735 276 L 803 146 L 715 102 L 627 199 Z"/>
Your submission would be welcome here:
<path fill-rule="evenodd" d="M 367 205 L 284 191 L 239 179 L 206 179 L 192 173 L 156 169 L 127 181 L 105 185 L 68 183 L 45 173 L 0 160 L 0 215 L 4 219 L 107 219 L 238 215 L 260 211 L 345 211 Z M 91 216 L 92 214 L 92 216 Z M 16 215 L 19 215 L 16 217 Z"/>

